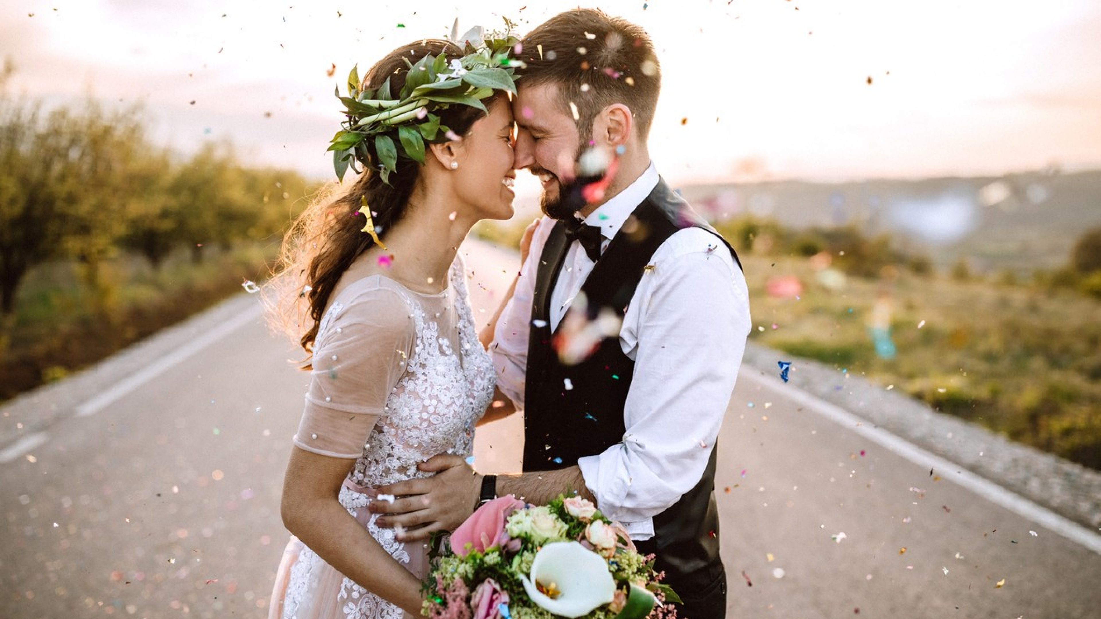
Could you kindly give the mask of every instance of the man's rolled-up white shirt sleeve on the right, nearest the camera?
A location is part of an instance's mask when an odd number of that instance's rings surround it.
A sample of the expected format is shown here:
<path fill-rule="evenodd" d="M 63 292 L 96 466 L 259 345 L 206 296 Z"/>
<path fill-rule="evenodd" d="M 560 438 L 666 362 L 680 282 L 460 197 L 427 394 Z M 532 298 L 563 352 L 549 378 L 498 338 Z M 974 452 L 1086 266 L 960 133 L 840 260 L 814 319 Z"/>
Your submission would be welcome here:
<path fill-rule="evenodd" d="M 686 229 L 655 253 L 620 333 L 634 359 L 623 442 L 578 460 L 601 512 L 636 540 L 652 536 L 653 517 L 699 481 L 745 349 L 745 279 L 715 246 L 710 234 Z"/>

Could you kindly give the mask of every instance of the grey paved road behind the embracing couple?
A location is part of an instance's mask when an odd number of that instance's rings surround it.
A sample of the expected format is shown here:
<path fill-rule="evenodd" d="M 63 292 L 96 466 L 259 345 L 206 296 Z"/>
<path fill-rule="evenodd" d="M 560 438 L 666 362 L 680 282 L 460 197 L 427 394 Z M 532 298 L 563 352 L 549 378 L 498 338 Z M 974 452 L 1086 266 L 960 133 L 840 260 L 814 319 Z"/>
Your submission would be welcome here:
<path fill-rule="evenodd" d="M 480 315 L 512 260 L 470 248 Z M 2 409 L 0 618 L 265 616 L 306 379 L 255 302 Z M 519 466 L 520 422 L 479 431 L 480 467 Z M 729 617 L 1099 616 L 1101 555 L 929 468 L 743 369 L 717 478 Z"/>

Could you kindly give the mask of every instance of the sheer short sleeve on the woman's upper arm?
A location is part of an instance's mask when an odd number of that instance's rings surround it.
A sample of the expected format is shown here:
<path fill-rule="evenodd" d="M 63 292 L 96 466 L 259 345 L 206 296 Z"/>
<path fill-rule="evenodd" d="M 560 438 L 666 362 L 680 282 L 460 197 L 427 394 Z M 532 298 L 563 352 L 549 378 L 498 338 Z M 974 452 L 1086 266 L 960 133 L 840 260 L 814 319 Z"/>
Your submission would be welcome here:
<path fill-rule="evenodd" d="M 408 302 L 392 290 L 374 287 L 334 305 L 314 348 L 294 444 L 315 454 L 358 458 L 405 373 L 416 329 Z"/>

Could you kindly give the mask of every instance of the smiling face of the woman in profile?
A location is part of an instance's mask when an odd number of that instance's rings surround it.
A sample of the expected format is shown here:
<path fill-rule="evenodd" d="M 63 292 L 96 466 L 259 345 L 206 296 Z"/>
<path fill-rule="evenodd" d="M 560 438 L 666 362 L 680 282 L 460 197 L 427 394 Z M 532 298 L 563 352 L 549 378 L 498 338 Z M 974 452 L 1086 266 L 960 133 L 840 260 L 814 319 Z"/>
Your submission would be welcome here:
<path fill-rule="evenodd" d="M 512 217 L 512 182 L 516 177 L 512 146 L 512 109 L 502 98 L 462 137 L 465 156 L 454 172 L 458 174 L 459 198 L 473 207 L 470 215 L 475 220 Z"/>

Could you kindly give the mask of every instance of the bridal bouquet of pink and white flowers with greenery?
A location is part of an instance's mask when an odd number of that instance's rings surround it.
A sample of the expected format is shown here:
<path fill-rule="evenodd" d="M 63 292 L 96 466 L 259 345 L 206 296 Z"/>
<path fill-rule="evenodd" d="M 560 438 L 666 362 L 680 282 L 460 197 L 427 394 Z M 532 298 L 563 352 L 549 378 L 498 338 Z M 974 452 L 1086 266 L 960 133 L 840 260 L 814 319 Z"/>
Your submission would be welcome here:
<path fill-rule="evenodd" d="M 433 619 L 675 617 L 680 599 L 652 556 L 581 497 L 527 506 L 509 496 L 480 507 L 433 560 L 424 615 Z"/>

